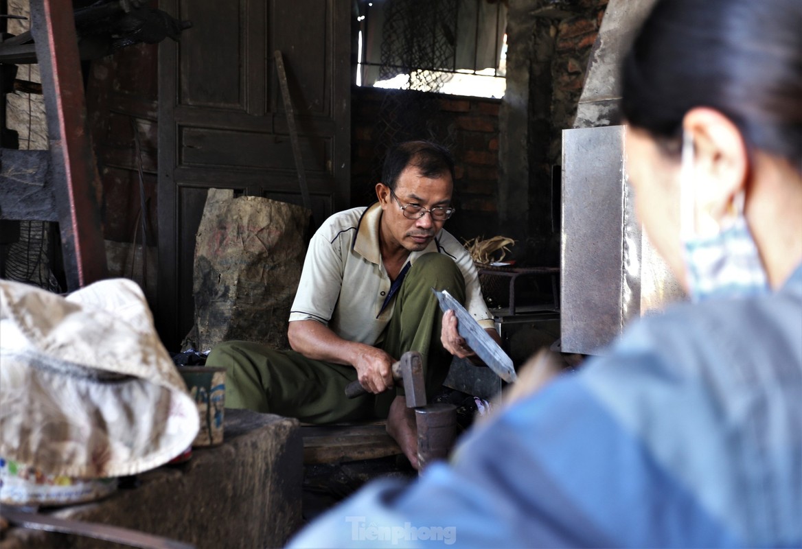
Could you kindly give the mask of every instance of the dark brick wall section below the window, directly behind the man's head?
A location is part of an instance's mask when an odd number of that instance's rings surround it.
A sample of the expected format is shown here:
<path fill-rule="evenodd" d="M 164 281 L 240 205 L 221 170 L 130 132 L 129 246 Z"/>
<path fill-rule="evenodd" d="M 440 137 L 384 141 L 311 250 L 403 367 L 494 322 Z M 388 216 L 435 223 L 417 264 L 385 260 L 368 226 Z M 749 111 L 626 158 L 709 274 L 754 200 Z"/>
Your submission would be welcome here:
<path fill-rule="evenodd" d="M 353 206 L 375 200 L 389 144 L 433 139 L 456 159 L 457 212 L 448 220 L 448 231 L 465 240 L 496 234 L 500 99 L 372 87 L 354 87 L 351 99 Z"/>

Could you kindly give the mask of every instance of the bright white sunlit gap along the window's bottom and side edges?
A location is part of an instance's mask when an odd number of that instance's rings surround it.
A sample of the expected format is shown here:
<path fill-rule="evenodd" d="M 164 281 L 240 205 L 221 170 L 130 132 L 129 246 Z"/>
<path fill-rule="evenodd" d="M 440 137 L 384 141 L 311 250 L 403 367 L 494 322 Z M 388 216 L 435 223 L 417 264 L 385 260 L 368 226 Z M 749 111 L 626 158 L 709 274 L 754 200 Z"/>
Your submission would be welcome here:
<path fill-rule="evenodd" d="M 356 85 L 362 86 L 362 30 L 358 35 L 358 54 Z M 433 75 L 437 75 L 444 82 L 437 93 L 448 95 L 467 95 L 468 97 L 493 97 L 501 99 L 507 89 L 507 34 L 504 34 L 504 42 L 501 46 L 499 68 L 494 70 L 492 67 L 482 71 L 457 70 L 456 72 L 446 71 L 413 71 L 411 75 L 396 75 L 387 80 L 379 80 L 373 87 L 383 87 L 392 90 L 417 90 L 417 82 L 431 81 Z M 427 91 L 427 90 L 421 90 Z"/>

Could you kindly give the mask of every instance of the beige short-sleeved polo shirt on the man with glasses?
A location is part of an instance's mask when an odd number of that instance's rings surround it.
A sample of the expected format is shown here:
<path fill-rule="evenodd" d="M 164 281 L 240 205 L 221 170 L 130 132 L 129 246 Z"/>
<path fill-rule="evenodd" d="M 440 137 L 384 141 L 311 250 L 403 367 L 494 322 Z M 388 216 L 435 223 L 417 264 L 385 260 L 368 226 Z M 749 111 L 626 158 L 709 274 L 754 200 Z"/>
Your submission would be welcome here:
<path fill-rule="evenodd" d="M 314 233 L 295 294 L 290 322 L 314 320 L 327 325 L 339 337 L 376 345 L 395 307 L 393 299 L 382 305 L 391 281 L 379 253 L 379 203 L 330 216 Z M 440 229 L 421 252 L 411 252 L 409 262 L 424 253 L 451 257 L 465 277 L 465 309 L 483 328 L 494 327 L 484 304 L 479 275 L 468 251 L 454 236 Z"/>

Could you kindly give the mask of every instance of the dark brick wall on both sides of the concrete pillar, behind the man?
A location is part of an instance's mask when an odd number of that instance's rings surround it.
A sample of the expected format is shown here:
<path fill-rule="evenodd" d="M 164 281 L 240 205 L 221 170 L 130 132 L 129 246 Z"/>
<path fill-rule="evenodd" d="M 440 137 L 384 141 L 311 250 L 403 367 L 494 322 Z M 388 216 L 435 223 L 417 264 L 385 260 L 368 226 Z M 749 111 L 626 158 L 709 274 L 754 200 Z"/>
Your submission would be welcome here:
<path fill-rule="evenodd" d="M 537 2 L 533 2 L 536 4 Z M 530 196 L 534 188 L 551 187 L 551 170 L 560 163 L 561 130 L 573 126 L 577 103 L 585 80 L 590 50 L 604 16 L 607 0 L 565 2 L 561 18 L 550 21 L 551 28 L 541 34 L 549 44 L 541 52 L 549 58 L 551 82 L 548 92 L 537 100 L 547 101 L 545 111 L 530 111 L 539 117 L 530 120 L 530 178 L 521 181 L 520 200 L 529 200 L 526 256 L 533 264 L 556 264 L 559 254 L 559 189 L 549 196 Z M 566 16 L 570 13 L 570 16 Z M 539 36 L 536 34 L 536 39 Z M 537 44 L 534 45 L 538 47 Z M 542 54 L 542 53 L 541 53 Z M 546 69 L 549 71 L 549 69 Z M 542 84 L 542 80 L 539 82 Z M 533 98 L 535 100 L 535 98 Z M 391 104 L 388 107 L 388 103 Z M 374 186 L 381 177 L 381 162 L 389 143 L 404 139 L 435 139 L 448 146 L 457 160 L 455 202 L 458 212 L 447 228 L 460 239 L 499 234 L 498 220 L 498 99 L 425 94 L 416 91 L 354 87 L 351 102 L 351 202 L 370 204 Z M 395 104 L 399 115 L 388 115 Z M 388 130 L 388 127 L 392 127 Z M 554 200 L 557 200 L 555 203 Z M 552 228 L 557 227 L 557 232 Z M 531 256 L 531 257 L 530 257 Z"/>

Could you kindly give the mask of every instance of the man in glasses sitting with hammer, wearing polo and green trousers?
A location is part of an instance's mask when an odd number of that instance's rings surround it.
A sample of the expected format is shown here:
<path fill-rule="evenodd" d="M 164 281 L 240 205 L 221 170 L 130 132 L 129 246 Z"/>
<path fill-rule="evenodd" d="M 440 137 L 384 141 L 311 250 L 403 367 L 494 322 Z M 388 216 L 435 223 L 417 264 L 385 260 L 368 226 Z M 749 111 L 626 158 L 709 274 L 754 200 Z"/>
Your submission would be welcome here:
<path fill-rule="evenodd" d="M 471 256 L 443 229 L 454 212 L 454 160 L 435 143 L 411 141 L 387 154 L 378 202 L 338 212 L 315 232 L 290 313 L 293 350 L 228 341 L 209 354 L 225 366 L 226 406 L 310 423 L 387 418 L 387 432 L 417 468 L 415 415 L 391 365 L 421 353 L 431 398 L 452 354 L 478 360 L 439 311 L 447 290 L 498 341 Z M 445 327 L 444 327 L 445 325 Z M 352 400 L 358 379 L 368 391 Z"/>

